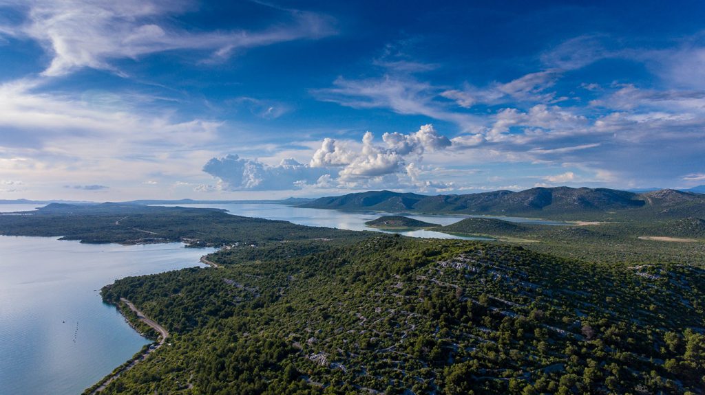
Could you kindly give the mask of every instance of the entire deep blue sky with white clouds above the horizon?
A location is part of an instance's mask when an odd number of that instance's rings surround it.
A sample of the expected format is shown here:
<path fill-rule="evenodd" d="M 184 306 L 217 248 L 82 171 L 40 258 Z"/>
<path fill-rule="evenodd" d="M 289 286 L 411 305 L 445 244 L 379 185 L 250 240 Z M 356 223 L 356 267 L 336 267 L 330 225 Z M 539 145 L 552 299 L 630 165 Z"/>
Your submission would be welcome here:
<path fill-rule="evenodd" d="M 0 199 L 705 184 L 705 2 L 0 0 Z"/>

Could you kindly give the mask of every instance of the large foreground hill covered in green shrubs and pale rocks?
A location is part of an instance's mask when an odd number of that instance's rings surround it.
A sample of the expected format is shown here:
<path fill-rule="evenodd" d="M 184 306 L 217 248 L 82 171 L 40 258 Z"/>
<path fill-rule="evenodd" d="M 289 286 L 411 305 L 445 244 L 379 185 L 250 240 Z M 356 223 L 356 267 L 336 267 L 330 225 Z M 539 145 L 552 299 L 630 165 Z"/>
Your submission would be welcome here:
<path fill-rule="evenodd" d="M 702 268 L 384 235 L 300 246 L 104 288 L 176 333 L 106 393 L 702 393 Z"/>

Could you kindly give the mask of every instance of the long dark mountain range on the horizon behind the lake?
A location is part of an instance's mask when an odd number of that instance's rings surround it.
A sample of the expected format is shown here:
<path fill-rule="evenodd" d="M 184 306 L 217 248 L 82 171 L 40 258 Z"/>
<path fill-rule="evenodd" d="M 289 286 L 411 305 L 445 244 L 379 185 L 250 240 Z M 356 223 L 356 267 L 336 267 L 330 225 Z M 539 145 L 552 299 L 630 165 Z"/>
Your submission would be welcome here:
<path fill-rule="evenodd" d="M 321 197 L 300 207 L 317 209 L 424 212 L 434 214 L 495 214 L 563 216 L 618 214 L 642 216 L 705 216 L 705 195 L 663 189 L 646 193 L 607 188 L 531 188 L 467 195 L 418 195 L 389 190 Z M 594 215 L 593 215 L 594 216 Z"/>

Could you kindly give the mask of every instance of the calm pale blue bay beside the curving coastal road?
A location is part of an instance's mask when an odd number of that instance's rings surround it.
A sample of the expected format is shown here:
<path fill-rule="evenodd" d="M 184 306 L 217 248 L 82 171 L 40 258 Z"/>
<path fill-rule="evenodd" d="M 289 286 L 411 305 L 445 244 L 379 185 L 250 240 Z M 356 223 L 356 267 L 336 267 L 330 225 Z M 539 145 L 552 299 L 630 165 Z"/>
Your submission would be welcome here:
<path fill-rule="evenodd" d="M 0 394 L 80 394 L 149 341 L 99 290 L 125 276 L 203 266 L 212 249 L 0 236 Z"/>

